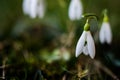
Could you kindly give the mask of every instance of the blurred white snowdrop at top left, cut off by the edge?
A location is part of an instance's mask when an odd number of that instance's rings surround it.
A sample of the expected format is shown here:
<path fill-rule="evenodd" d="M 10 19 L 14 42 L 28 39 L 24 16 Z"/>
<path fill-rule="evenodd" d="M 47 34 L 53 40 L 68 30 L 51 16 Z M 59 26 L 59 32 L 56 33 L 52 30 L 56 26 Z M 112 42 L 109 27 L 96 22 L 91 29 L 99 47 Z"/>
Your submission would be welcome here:
<path fill-rule="evenodd" d="M 45 14 L 44 0 L 24 0 L 23 12 L 29 15 L 31 18 L 35 18 L 37 16 L 43 18 Z"/>

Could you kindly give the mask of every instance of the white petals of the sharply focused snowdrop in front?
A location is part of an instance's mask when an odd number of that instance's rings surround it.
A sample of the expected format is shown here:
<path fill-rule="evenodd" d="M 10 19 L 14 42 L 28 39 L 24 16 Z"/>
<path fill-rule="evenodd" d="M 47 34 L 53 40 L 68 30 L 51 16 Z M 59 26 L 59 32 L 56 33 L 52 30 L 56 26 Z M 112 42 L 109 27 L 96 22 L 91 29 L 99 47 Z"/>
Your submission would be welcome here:
<path fill-rule="evenodd" d="M 92 59 L 95 57 L 95 44 L 90 31 L 83 31 L 80 39 L 78 40 L 76 46 L 76 57 L 78 57 L 82 52 L 85 55 L 90 55 Z"/>

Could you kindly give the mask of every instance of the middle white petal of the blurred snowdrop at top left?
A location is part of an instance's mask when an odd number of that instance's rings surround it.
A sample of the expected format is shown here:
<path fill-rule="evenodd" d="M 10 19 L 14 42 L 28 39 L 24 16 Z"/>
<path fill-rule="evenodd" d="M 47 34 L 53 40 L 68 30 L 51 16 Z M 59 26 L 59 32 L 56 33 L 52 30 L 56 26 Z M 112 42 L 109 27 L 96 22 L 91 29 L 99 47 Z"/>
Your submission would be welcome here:
<path fill-rule="evenodd" d="M 30 17 L 35 18 L 37 16 L 37 3 L 38 0 L 31 0 Z"/>

